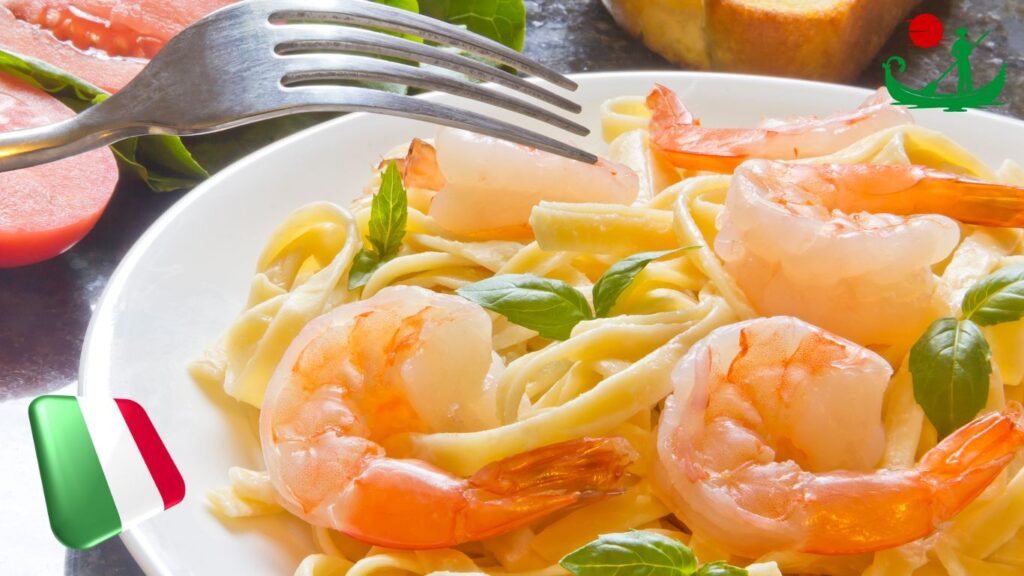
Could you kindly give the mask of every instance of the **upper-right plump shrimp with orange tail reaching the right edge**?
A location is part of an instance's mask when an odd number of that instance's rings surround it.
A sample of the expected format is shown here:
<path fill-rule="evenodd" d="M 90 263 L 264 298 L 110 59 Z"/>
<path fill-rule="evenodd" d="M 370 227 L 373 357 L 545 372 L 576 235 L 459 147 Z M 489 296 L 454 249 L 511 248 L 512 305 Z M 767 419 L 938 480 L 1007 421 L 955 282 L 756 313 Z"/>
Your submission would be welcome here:
<path fill-rule="evenodd" d="M 1024 225 L 1024 189 L 923 166 L 751 160 L 732 176 L 715 250 L 761 314 L 894 345 L 948 312 L 931 266 L 959 241 L 950 217 Z"/>

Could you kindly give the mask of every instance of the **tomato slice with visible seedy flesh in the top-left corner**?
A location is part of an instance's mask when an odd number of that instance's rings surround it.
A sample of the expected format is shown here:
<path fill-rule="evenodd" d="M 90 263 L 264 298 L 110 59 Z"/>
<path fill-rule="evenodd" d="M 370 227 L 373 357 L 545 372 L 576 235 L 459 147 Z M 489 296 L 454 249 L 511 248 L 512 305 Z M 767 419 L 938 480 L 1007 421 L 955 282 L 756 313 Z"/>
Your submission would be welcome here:
<path fill-rule="evenodd" d="M 186 26 L 234 0 L 0 0 L 0 47 L 116 92 Z"/>

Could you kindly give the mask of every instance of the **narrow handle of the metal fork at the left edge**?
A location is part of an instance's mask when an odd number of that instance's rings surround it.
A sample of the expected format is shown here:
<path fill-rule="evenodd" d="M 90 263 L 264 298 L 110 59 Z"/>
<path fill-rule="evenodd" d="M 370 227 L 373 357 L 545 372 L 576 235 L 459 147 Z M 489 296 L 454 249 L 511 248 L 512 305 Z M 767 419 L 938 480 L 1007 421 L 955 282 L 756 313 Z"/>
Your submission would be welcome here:
<path fill-rule="evenodd" d="M 95 110 L 46 126 L 0 133 L 0 172 L 62 160 L 148 133 L 141 126 L 112 126 Z"/>

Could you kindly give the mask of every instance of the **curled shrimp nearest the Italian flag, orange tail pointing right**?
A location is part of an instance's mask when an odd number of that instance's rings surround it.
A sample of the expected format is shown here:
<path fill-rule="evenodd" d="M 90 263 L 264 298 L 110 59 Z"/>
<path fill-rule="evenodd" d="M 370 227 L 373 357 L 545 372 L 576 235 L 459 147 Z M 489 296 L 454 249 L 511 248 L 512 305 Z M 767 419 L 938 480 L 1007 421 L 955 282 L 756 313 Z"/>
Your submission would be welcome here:
<path fill-rule="evenodd" d="M 446 547 L 622 492 L 621 438 L 581 439 L 462 479 L 396 451 L 408 433 L 497 425 L 490 320 L 475 303 L 391 287 L 309 323 L 278 366 L 260 441 L 281 504 L 375 545 Z"/>

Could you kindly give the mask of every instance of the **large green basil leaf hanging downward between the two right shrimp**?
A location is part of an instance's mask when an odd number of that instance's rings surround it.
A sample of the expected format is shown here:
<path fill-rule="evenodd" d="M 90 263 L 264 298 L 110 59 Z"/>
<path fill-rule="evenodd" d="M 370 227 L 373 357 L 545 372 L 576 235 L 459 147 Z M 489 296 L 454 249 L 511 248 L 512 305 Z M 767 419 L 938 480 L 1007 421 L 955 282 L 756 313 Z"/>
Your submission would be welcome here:
<path fill-rule="evenodd" d="M 939 438 L 971 421 L 988 401 L 991 352 L 970 320 L 936 320 L 910 348 L 913 398 Z"/>

